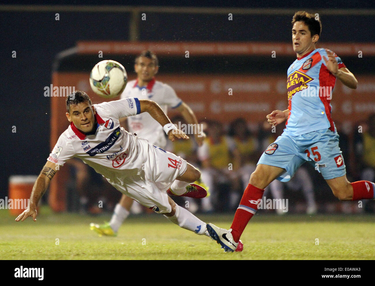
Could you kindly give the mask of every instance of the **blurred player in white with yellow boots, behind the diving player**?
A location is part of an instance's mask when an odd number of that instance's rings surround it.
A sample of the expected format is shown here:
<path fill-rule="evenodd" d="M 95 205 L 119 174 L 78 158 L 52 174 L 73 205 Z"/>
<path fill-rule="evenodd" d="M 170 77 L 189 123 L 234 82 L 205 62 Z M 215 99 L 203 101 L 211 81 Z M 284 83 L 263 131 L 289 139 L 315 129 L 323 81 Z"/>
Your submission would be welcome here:
<path fill-rule="evenodd" d="M 161 107 L 165 114 L 167 113 L 168 107 L 176 109 L 181 113 L 188 124 L 195 124 L 193 125 L 196 126 L 197 130 L 196 134 L 194 134 L 195 140 L 199 146 L 202 145 L 206 136 L 204 132 L 200 130 L 200 125 L 193 111 L 186 103 L 177 97 L 172 87 L 163 82 L 156 81 L 154 76 L 159 70 L 159 61 L 156 55 L 150 51 L 142 52 L 135 59 L 134 70 L 137 74 L 137 79 L 127 83 L 125 90 L 121 94 L 121 99 L 136 97 L 138 99 L 153 100 Z M 122 118 L 120 124 L 130 133 L 135 133 L 138 137 L 147 139 L 151 144 L 157 147 L 165 148 L 166 138 L 163 128 L 147 112 Z M 194 194 L 195 193 L 189 193 L 189 195 Z M 92 223 L 90 228 L 98 232 L 99 235 L 116 235 L 121 224 L 129 215 L 130 208 L 132 208 L 133 204 L 133 199 L 122 195 L 120 202 L 118 202 L 114 208 L 114 213 L 110 222 L 104 223 L 103 225 Z"/>

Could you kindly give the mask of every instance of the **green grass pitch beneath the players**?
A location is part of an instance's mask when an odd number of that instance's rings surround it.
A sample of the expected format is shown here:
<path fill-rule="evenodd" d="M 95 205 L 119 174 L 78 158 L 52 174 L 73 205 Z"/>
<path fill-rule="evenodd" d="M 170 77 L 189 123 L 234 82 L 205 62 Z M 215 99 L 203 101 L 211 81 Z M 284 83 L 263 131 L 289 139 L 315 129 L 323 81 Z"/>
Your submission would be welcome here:
<path fill-rule="evenodd" d="M 232 214 L 198 217 L 223 228 L 229 228 L 233 219 Z M 157 214 L 129 217 L 117 237 L 98 237 L 90 231 L 90 222 L 109 219 L 54 214 L 44 207 L 36 222 L 31 218 L 15 222 L 1 210 L 0 259 L 375 259 L 375 216 L 257 214 L 241 237 L 242 253 L 223 253 L 208 237 Z"/>

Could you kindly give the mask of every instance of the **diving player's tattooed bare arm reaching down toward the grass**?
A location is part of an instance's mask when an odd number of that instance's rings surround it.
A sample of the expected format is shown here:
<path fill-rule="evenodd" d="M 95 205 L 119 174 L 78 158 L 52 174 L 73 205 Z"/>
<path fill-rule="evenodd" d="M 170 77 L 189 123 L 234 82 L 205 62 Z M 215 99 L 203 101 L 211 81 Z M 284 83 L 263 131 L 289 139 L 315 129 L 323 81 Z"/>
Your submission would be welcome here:
<path fill-rule="evenodd" d="M 36 207 L 40 201 L 40 198 L 42 198 L 46 192 L 49 182 L 52 180 L 56 172 L 56 164 L 47 161 L 34 183 L 33 190 L 31 191 L 30 195 L 30 205 L 28 209 L 24 210 L 23 213 L 21 213 L 15 219 L 16 222 L 19 222 L 20 220 L 23 222 L 29 216 L 33 217 L 34 222 L 36 221 Z"/>

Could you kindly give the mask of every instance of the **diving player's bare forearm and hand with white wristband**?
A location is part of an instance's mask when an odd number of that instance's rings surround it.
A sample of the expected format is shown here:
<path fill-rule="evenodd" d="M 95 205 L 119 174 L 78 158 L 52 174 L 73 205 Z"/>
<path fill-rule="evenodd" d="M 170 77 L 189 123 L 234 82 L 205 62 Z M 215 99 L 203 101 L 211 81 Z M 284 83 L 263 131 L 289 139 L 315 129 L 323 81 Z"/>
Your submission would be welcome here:
<path fill-rule="evenodd" d="M 165 126 L 166 124 L 172 124 L 171 120 L 169 120 L 168 116 L 163 112 L 160 106 L 152 101 L 152 100 L 139 100 L 141 106 L 141 113 L 148 112 L 152 118 L 154 118 L 161 126 Z M 173 132 L 172 132 L 173 131 Z M 189 139 L 184 132 L 181 130 L 169 130 L 168 132 L 168 139 L 172 142 L 177 139 Z"/>

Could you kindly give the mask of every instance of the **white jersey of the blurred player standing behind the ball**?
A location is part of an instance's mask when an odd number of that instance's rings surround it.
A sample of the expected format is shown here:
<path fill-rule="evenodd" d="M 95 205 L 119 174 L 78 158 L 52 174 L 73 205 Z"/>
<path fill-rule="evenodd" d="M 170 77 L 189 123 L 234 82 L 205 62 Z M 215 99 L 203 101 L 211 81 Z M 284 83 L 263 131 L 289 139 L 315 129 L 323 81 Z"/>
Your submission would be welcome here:
<path fill-rule="evenodd" d="M 172 87 L 155 79 L 152 79 L 145 88 L 138 86 L 138 79 L 129 81 L 121 94 L 121 99 L 128 97 L 152 100 L 160 105 L 165 114 L 167 114 L 168 106 L 176 108 L 182 103 Z M 128 117 L 127 123 L 130 133 L 136 133 L 138 137 L 147 139 L 153 145 L 165 147 L 163 127 L 148 112 Z"/>

